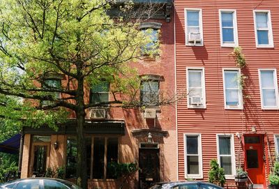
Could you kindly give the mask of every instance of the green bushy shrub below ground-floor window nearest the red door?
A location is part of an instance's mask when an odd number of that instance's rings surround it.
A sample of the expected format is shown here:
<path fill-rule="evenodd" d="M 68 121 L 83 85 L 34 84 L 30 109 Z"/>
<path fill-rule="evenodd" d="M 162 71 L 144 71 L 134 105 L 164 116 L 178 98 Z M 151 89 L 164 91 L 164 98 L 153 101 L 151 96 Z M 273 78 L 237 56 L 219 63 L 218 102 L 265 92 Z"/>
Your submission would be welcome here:
<path fill-rule="evenodd" d="M 211 160 L 209 169 L 209 183 L 215 183 L 223 187 L 225 181 L 226 179 L 224 169 L 219 166 L 217 160 Z"/>

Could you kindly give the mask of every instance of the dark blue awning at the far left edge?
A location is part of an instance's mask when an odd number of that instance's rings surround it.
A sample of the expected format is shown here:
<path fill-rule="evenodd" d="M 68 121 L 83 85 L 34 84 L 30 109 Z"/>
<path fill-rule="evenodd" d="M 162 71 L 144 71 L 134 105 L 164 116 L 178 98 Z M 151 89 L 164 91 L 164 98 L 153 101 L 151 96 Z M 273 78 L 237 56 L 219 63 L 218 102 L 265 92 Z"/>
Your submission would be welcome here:
<path fill-rule="evenodd" d="M 10 139 L 0 144 L 0 152 L 3 153 L 19 153 L 20 149 L 20 134 L 17 134 Z"/>

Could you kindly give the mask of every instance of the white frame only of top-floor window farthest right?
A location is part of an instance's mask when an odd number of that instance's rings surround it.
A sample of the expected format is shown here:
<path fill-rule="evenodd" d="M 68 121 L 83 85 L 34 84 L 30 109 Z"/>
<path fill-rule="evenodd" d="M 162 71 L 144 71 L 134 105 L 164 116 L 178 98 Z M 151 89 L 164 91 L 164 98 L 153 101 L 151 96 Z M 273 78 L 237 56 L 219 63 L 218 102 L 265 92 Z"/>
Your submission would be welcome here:
<path fill-rule="evenodd" d="M 269 29 L 269 45 L 259 45 L 257 41 L 257 22 L 256 22 L 256 13 L 267 13 L 267 26 Z M 254 15 L 254 28 L 255 28 L 255 40 L 256 40 L 256 47 L 266 47 L 266 48 L 271 48 L 274 47 L 273 45 L 273 32 L 272 32 L 272 22 L 271 22 L 271 12 L 270 10 L 253 10 L 253 15 Z"/>

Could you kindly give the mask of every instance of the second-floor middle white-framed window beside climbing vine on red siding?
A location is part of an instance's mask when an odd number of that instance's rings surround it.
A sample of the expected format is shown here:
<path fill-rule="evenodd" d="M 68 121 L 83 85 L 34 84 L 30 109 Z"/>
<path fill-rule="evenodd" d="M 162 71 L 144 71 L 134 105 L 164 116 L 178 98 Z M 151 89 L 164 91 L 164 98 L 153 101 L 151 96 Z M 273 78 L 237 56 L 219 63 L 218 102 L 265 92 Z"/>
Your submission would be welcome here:
<path fill-rule="evenodd" d="M 243 109 L 240 69 L 223 68 L 225 109 Z"/>

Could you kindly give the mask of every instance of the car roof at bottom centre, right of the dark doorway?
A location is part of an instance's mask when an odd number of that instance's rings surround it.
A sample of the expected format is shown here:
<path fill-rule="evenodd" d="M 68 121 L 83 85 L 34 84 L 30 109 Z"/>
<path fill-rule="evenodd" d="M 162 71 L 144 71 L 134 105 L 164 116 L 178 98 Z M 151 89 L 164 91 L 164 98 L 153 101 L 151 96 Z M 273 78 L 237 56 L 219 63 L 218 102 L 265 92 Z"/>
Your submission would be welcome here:
<path fill-rule="evenodd" d="M 202 181 L 178 181 L 167 183 L 155 183 L 149 189 L 223 189 L 213 183 Z"/>

